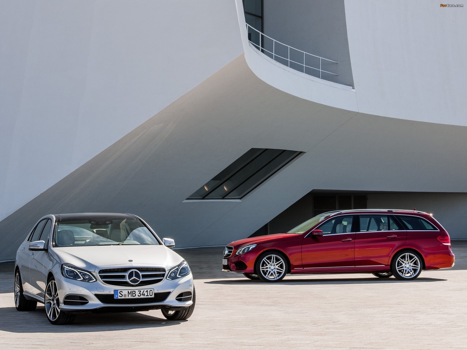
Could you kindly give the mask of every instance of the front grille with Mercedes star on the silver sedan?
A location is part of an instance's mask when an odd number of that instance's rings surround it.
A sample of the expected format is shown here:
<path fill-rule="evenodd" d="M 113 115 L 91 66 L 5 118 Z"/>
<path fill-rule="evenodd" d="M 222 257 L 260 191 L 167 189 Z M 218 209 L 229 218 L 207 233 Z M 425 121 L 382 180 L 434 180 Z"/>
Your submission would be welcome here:
<path fill-rule="evenodd" d="M 140 281 L 136 284 L 128 282 L 127 274 L 132 270 L 136 270 L 141 275 Z M 112 286 L 142 287 L 161 282 L 165 277 L 165 273 L 163 267 L 120 267 L 99 270 L 99 277 L 102 282 Z"/>

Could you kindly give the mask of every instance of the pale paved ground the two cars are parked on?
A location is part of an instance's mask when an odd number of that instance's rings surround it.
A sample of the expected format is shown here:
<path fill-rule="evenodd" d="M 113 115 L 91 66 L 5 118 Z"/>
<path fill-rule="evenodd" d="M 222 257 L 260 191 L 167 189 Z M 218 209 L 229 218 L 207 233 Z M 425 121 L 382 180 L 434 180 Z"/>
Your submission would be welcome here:
<path fill-rule="evenodd" d="M 12 264 L 0 264 L 2 349 L 467 349 L 467 242 L 453 269 L 413 282 L 369 274 L 288 276 L 263 284 L 219 271 L 222 248 L 178 250 L 197 288 L 191 318 L 159 310 L 84 314 L 53 326 L 40 306 L 17 312 Z"/>

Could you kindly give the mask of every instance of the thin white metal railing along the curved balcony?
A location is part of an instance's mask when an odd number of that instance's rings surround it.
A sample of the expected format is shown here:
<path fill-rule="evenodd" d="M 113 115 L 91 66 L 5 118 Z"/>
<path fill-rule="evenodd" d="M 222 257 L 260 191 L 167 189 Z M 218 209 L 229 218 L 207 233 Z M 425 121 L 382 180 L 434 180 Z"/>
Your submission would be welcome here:
<path fill-rule="evenodd" d="M 288 66 L 289 68 L 293 70 L 301 71 L 313 77 L 318 77 L 318 72 L 319 72 L 319 78 L 325 79 L 325 80 L 329 80 L 329 79 L 323 78 L 323 73 L 331 74 L 333 76 L 338 75 L 328 70 L 323 70 L 322 68 L 323 68 L 323 63 L 327 64 L 327 63 L 339 63 L 339 62 L 336 62 L 336 61 L 333 61 L 333 60 L 330 60 L 324 57 L 312 55 L 312 54 L 309 54 L 308 52 L 295 49 L 282 42 L 278 42 L 277 40 L 253 28 L 248 23 L 247 23 L 247 35 L 248 35 L 248 42 L 250 42 L 251 46 L 253 46 L 258 51 L 262 52 L 269 58 L 272 58 L 274 61 L 281 63 L 285 66 Z M 254 40 L 253 40 L 253 35 L 254 35 Z M 318 60 L 319 60 L 319 63 L 318 63 Z M 302 62 L 298 62 L 298 61 L 302 61 Z M 318 65 L 319 65 L 319 68 L 317 68 Z"/>

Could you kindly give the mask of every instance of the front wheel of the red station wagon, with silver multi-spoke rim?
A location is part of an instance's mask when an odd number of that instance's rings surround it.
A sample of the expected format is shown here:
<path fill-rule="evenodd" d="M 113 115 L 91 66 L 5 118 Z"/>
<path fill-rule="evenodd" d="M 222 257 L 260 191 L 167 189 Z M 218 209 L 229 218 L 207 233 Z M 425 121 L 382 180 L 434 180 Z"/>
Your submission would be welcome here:
<path fill-rule="evenodd" d="M 283 280 L 288 271 L 289 262 L 280 252 L 264 252 L 255 261 L 256 275 L 264 282 L 279 282 Z"/>

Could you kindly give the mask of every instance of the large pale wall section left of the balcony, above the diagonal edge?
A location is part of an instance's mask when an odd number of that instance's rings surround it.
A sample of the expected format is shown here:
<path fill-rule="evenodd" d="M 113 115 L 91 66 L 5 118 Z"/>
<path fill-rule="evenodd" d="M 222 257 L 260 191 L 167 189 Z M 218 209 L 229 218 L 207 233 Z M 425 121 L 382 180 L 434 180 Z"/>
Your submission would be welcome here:
<path fill-rule="evenodd" d="M 233 1 L 0 0 L 0 220 L 239 56 Z"/>

